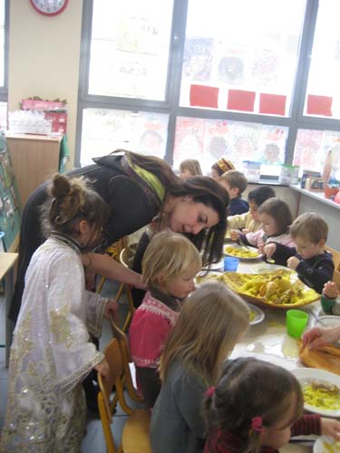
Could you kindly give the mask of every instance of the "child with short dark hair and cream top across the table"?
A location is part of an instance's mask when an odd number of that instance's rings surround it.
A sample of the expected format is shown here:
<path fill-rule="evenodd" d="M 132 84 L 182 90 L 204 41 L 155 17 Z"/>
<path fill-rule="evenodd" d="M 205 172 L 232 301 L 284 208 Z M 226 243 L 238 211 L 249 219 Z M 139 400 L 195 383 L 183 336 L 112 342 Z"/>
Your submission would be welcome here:
<path fill-rule="evenodd" d="M 228 230 L 226 236 L 230 236 L 230 230 L 238 229 L 241 233 L 254 233 L 261 227 L 261 222 L 258 217 L 258 207 L 262 205 L 268 198 L 275 197 L 275 192 L 269 186 L 261 186 L 255 188 L 248 193 L 249 210 L 244 214 L 237 214 L 235 216 L 228 216 Z M 240 233 L 237 231 L 236 233 Z"/>

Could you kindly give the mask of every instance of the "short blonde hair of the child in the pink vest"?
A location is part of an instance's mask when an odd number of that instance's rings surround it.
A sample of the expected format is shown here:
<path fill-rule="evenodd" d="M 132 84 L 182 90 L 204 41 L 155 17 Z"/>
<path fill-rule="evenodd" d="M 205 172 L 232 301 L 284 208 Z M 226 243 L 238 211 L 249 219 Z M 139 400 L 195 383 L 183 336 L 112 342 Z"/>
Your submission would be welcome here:
<path fill-rule="evenodd" d="M 162 231 L 152 237 L 141 262 L 142 280 L 148 288 L 166 290 L 167 284 L 192 271 L 197 274 L 202 267 L 198 249 L 179 233 Z"/>

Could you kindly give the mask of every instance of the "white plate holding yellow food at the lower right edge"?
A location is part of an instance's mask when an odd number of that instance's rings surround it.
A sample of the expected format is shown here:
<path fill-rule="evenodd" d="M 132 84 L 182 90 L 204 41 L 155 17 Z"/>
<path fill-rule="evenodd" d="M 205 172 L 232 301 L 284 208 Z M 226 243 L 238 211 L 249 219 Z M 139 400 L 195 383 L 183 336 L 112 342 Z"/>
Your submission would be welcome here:
<path fill-rule="evenodd" d="M 319 370 L 317 368 L 296 368 L 292 370 L 292 373 L 296 376 L 303 389 L 305 397 L 304 408 L 306 410 L 324 415 L 325 417 L 340 417 L 340 376 L 333 372 Z M 310 391 L 306 394 L 306 390 L 304 389 L 306 389 L 306 386 L 310 387 L 312 383 L 333 386 L 337 390 L 335 393 L 329 393 L 331 399 L 327 403 L 324 403 L 326 401 L 325 399 L 328 398 L 324 391 L 314 390 L 315 396 Z M 313 400 L 311 400 L 311 395 L 313 396 Z M 316 404 L 313 401 L 316 401 Z M 338 403 L 336 405 L 339 406 L 339 409 L 325 409 L 327 405 L 329 406 L 334 401 Z"/>

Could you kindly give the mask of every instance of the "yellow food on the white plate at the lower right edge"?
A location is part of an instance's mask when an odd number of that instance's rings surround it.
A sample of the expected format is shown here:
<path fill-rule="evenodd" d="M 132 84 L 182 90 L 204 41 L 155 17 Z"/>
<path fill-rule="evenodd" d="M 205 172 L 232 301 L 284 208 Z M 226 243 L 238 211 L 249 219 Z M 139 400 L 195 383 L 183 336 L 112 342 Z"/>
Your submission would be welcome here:
<path fill-rule="evenodd" d="M 302 384 L 305 403 L 322 410 L 340 410 L 340 389 L 335 384 L 309 380 Z"/>

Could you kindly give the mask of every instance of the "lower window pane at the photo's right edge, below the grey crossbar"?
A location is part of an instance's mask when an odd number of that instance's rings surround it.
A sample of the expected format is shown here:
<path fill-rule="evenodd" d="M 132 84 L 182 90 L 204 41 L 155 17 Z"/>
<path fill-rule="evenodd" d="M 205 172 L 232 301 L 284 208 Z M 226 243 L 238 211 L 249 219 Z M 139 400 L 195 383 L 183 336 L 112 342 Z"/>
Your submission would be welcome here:
<path fill-rule="evenodd" d="M 340 179 L 340 132 L 334 130 L 297 130 L 294 164 L 302 169 L 323 172 L 331 151 L 335 178 Z"/>

